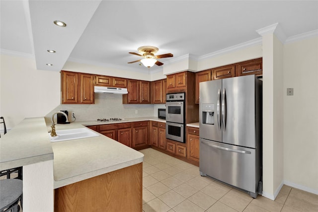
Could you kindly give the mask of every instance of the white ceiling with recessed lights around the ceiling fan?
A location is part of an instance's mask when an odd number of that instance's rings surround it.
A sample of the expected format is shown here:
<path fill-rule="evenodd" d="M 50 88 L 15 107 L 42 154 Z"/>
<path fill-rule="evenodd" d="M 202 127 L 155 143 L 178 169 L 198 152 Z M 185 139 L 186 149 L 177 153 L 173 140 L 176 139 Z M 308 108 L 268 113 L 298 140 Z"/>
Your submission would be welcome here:
<path fill-rule="evenodd" d="M 157 46 L 157 55 L 174 55 L 159 59 L 169 63 L 260 38 L 256 30 L 274 23 L 287 38 L 318 30 L 318 0 L 1 0 L 0 7 L 1 52 L 33 56 L 37 69 L 52 71 L 70 60 L 148 72 L 127 64 L 141 59 L 128 52 Z"/>

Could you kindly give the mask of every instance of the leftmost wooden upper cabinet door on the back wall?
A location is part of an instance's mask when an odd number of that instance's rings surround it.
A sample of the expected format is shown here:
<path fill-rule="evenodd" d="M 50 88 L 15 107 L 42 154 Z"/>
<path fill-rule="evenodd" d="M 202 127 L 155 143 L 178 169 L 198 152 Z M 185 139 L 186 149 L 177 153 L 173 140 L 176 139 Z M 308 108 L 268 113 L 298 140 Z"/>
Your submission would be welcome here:
<path fill-rule="evenodd" d="M 62 104 L 78 103 L 78 73 L 62 71 Z"/>

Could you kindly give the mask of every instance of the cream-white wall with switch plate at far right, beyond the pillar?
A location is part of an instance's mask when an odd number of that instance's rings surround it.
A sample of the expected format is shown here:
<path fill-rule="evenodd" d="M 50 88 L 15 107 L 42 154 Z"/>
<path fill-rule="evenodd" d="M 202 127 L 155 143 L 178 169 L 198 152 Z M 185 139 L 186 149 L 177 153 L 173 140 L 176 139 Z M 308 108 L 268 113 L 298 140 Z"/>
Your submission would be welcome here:
<path fill-rule="evenodd" d="M 318 194 L 318 37 L 284 45 L 283 90 L 285 184 Z"/>

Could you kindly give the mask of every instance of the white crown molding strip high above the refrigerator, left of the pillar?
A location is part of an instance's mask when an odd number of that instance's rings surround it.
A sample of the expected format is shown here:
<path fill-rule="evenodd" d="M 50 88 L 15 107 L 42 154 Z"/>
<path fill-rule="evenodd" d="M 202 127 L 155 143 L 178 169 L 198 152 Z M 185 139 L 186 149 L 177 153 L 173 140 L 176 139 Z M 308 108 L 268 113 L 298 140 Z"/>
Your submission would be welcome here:
<path fill-rule="evenodd" d="M 198 60 L 205 60 L 205 59 L 214 58 L 214 57 L 217 57 L 217 56 L 220 56 L 220 55 L 224 55 L 224 54 L 227 54 L 227 53 L 230 53 L 230 52 L 237 51 L 239 49 L 244 49 L 244 48 L 247 48 L 247 47 L 252 47 L 252 46 L 261 45 L 261 44 L 262 44 L 262 38 L 256 38 L 256 39 L 244 42 L 244 43 L 240 43 L 240 44 L 235 45 L 235 46 L 231 46 L 231 47 L 228 47 L 228 48 L 225 48 L 225 49 L 221 49 L 221 50 L 216 51 L 216 52 L 212 52 L 212 53 L 200 56 L 198 58 Z"/>

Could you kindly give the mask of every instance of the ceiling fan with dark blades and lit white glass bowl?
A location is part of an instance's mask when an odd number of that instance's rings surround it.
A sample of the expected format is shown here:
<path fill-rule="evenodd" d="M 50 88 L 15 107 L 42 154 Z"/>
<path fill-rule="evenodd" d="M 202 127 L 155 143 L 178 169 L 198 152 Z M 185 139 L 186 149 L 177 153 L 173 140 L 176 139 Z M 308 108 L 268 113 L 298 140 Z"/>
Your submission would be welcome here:
<path fill-rule="evenodd" d="M 159 58 L 171 58 L 171 57 L 173 57 L 173 55 L 171 53 L 155 56 L 155 54 L 158 52 L 158 50 L 159 49 L 155 46 L 139 47 L 138 52 L 140 54 L 135 53 L 135 52 L 129 52 L 129 54 L 137 55 L 137 56 L 143 57 L 144 59 L 140 59 L 138 61 L 132 61 L 132 62 L 129 62 L 129 64 L 136 63 L 136 62 L 140 61 L 145 67 L 150 68 L 150 67 L 153 67 L 155 64 L 157 66 L 163 65 L 163 63 L 161 63 L 157 60 Z"/>

